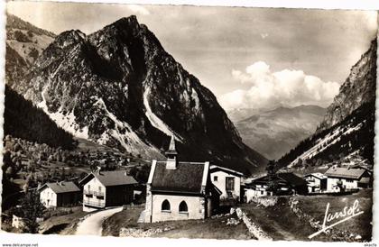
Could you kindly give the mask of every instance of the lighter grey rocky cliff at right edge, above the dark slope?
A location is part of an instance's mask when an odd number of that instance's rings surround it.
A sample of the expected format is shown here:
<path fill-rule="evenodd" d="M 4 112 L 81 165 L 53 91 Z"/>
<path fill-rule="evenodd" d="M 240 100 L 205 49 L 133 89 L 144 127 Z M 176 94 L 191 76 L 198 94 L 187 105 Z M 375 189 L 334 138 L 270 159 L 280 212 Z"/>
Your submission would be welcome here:
<path fill-rule="evenodd" d="M 352 67 L 350 75 L 328 106 L 327 114 L 319 125 L 318 133 L 341 122 L 359 106 L 374 101 L 376 90 L 376 39 L 370 49 Z"/>

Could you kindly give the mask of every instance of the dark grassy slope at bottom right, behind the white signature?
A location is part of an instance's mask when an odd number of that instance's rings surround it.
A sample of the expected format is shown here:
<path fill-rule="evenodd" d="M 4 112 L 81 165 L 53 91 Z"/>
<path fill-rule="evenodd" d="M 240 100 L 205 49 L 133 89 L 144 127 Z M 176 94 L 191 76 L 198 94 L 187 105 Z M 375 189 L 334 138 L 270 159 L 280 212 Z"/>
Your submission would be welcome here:
<path fill-rule="evenodd" d="M 352 206 L 358 199 L 359 209 L 365 213 L 358 215 L 343 224 L 338 224 L 334 229 L 338 231 L 347 231 L 362 236 L 362 240 L 369 241 L 372 235 L 372 212 L 373 205 L 372 190 L 363 190 L 359 193 L 348 196 L 297 196 L 300 209 L 314 217 L 322 224 L 326 206 L 330 203 L 329 213 L 341 211 L 345 206 Z M 288 204 L 289 197 L 279 199 L 277 205 L 272 207 L 258 206 L 254 203 L 241 206 L 243 211 L 254 221 L 259 224 L 263 231 L 268 233 L 273 240 L 300 240 L 310 241 L 308 236 L 317 231 L 310 226 L 308 222 L 300 220 Z M 341 219 L 341 218 L 340 218 Z M 332 221 L 330 224 L 337 222 Z M 316 236 L 314 241 L 333 241 L 326 234 L 321 233 Z"/>

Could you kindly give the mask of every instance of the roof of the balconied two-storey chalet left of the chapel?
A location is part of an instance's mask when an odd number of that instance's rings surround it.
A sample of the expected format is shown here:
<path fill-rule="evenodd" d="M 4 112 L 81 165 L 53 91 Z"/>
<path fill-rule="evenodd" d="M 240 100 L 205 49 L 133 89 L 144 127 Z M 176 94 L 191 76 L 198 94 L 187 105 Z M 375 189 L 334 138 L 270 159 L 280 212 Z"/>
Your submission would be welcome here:
<path fill-rule="evenodd" d="M 92 172 L 88 174 L 86 178 L 83 178 L 82 181 L 87 180 L 88 182 L 90 179 L 92 179 L 91 177 L 97 178 L 99 182 L 105 187 L 120 186 L 120 185 L 133 185 L 133 184 L 138 183 L 132 176 L 126 175 L 125 170 L 110 170 L 110 171 L 100 170 L 99 172 Z M 88 180 L 88 178 L 90 179 Z"/>

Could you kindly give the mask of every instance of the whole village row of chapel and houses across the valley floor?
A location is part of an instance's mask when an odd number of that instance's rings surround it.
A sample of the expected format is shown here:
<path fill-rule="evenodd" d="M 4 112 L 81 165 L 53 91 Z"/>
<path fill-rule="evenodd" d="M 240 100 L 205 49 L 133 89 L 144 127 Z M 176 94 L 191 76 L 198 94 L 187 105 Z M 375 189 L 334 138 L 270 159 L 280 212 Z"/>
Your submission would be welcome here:
<path fill-rule="evenodd" d="M 330 167 L 324 174 L 310 173 L 303 178 L 292 172 L 277 172 L 260 178 L 245 178 L 241 172 L 209 162 L 187 162 L 177 159 L 172 137 L 167 160 L 153 160 L 145 187 L 125 170 L 101 170 L 100 167 L 81 179 L 50 182 L 38 188 L 40 201 L 47 208 L 83 206 L 92 212 L 112 206 L 131 204 L 145 195 L 145 206 L 138 223 L 171 220 L 205 219 L 220 202 L 249 203 L 257 197 L 280 195 L 345 195 L 360 188 L 372 188 L 373 171 L 364 165 Z M 275 184 L 275 192 L 272 185 Z M 143 189 L 146 189 L 144 194 Z M 15 216 L 13 225 L 22 219 Z"/>

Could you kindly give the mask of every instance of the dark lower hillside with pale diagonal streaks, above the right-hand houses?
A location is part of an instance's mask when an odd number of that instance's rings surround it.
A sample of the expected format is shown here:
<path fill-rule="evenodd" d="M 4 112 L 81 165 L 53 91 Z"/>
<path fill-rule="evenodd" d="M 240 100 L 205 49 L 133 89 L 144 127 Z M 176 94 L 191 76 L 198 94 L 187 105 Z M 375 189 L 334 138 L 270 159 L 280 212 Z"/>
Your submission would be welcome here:
<path fill-rule="evenodd" d="M 355 155 L 374 164 L 374 113 L 374 102 L 361 105 L 342 122 L 300 142 L 278 163 L 281 167 L 319 166 Z"/>

